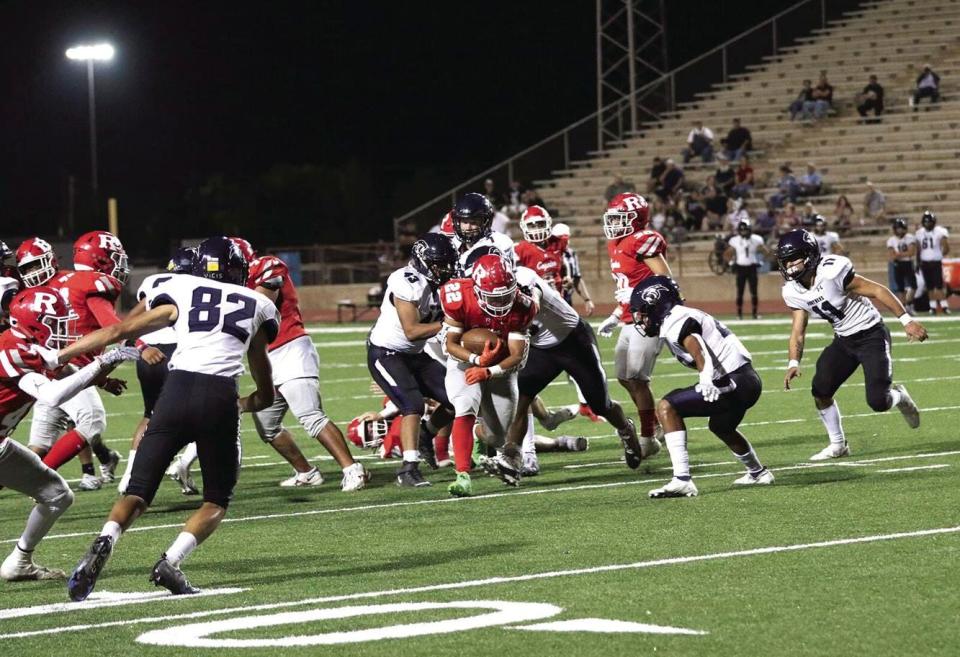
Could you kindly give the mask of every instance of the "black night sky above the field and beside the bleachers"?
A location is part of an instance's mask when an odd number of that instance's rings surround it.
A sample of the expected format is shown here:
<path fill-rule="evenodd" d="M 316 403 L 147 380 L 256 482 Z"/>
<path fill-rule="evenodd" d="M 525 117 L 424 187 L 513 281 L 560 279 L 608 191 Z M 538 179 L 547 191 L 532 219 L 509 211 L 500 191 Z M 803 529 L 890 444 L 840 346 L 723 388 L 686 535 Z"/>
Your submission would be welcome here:
<path fill-rule="evenodd" d="M 673 63 L 789 4 L 670 0 Z M 214 230 L 197 223 L 211 176 L 245 190 L 279 164 L 351 167 L 364 183 L 308 239 L 358 238 L 338 225 L 387 237 L 390 217 L 596 103 L 593 0 L 24 0 L 0 2 L 0 25 L 4 237 L 55 235 L 71 174 L 77 232 L 93 221 L 85 69 L 64 57 L 77 42 L 117 48 L 97 68 L 101 192 L 119 198 L 128 250 L 149 255 Z"/>

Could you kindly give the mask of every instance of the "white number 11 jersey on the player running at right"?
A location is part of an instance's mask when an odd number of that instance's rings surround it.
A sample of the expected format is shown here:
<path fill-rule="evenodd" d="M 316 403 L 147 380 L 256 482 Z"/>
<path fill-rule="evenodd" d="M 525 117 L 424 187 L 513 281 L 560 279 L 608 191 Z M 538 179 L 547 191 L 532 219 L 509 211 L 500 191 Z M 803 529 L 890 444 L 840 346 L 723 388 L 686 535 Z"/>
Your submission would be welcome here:
<path fill-rule="evenodd" d="M 883 318 L 869 299 L 847 292 L 846 286 L 855 273 L 849 258 L 822 258 L 810 289 L 797 281 L 787 281 L 782 290 L 783 301 L 794 310 L 806 310 L 827 320 L 837 335 L 865 331 Z"/>

